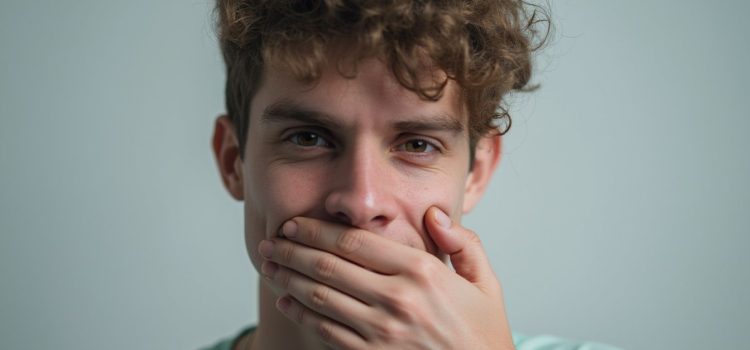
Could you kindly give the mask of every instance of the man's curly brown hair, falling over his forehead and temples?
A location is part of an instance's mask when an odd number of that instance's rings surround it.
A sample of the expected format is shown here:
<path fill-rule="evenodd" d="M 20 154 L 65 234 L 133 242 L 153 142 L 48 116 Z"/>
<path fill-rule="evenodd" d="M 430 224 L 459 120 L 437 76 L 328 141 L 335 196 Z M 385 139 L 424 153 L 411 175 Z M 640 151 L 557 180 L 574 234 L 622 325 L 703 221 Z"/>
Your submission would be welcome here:
<path fill-rule="evenodd" d="M 356 75 L 357 61 L 378 57 L 425 100 L 438 100 L 449 79 L 457 82 L 473 155 L 479 136 L 510 128 L 503 97 L 535 88 L 531 53 L 549 33 L 547 12 L 522 0 L 217 0 L 216 12 L 227 113 L 241 155 L 264 64 L 313 82 L 336 46 L 348 50 L 351 61 L 334 62 L 347 77 Z M 347 63 L 353 73 L 341 68 Z M 425 82 L 425 69 L 435 68 L 443 74 Z"/>

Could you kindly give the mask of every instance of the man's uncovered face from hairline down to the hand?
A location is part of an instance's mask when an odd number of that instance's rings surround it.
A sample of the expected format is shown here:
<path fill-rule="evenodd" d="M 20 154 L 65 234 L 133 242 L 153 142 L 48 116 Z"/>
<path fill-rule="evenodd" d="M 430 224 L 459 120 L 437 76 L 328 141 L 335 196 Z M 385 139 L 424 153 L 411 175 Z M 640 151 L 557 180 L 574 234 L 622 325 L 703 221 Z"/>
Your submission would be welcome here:
<path fill-rule="evenodd" d="M 252 101 L 241 164 L 245 238 L 258 243 L 296 216 L 344 223 L 443 258 L 423 217 L 459 221 L 469 169 L 466 114 L 449 83 L 421 100 L 378 60 L 354 79 L 335 68 L 315 84 L 267 69 Z"/>

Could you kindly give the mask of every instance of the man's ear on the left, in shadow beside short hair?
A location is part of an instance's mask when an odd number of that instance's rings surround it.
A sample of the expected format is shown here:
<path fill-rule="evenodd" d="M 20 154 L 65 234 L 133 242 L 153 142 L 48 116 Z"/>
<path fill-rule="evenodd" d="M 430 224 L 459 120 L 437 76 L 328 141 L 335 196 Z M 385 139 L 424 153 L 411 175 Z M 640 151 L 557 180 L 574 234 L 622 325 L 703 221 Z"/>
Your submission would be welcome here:
<path fill-rule="evenodd" d="M 244 198 L 244 178 L 242 177 L 242 158 L 240 157 L 240 145 L 237 142 L 237 134 L 229 117 L 220 115 L 216 118 L 214 125 L 214 137 L 211 146 L 219 167 L 221 180 L 224 182 L 229 194 L 236 200 Z"/>

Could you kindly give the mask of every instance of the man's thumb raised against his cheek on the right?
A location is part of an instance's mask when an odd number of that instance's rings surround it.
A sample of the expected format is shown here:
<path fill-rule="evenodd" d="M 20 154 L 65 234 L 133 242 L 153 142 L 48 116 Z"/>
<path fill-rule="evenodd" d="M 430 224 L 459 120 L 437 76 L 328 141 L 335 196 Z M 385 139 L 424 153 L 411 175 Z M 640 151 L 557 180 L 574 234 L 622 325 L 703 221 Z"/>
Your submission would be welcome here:
<path fill-rule="evenodd" d="M 476 233 L 453 224 L 448 215 L 437 207 L 427 210 L 424 221 L 437 247 L 450 256 L 456 273 L 479 285 L 489 285 L 490 281 L 495 280 Z"/>

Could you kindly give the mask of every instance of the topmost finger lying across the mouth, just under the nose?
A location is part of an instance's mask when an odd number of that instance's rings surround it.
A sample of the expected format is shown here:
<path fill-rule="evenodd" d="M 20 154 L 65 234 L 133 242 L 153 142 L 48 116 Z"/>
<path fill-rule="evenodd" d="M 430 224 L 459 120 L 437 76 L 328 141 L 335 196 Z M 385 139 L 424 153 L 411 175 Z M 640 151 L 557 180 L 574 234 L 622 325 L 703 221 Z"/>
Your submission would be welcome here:
<path fill-rule="evenodd" d="M 287 221 L 282 233 L 291 240 L 387 275 L 408 269 L 411 261 L 422 253 L 366 230 L 311 218 L 296 217 Z"/>

